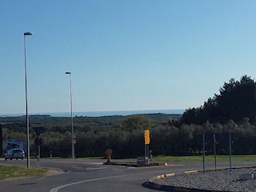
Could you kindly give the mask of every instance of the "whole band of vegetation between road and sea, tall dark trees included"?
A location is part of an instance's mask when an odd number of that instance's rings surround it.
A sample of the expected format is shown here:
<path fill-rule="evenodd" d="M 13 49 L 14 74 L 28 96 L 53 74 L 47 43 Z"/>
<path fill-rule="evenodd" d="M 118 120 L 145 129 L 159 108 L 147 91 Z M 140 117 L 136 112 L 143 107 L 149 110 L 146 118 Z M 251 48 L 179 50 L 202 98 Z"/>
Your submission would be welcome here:
<path fill-rule="evenodd" d="M 76 157 L 137 158 L 144 155 L 144 130 L 150 130 L 150 150 L 154 157 L 202 156 L 202 135 L 206 135 L 206 155 L 228 155 L 229 134 L 232 154 L 256 154 L 256 82 L 248 76 L 230 79 L 202 106 L 184 114 L 138 114 L 98 118 L 74 117 Z M 3 148 L 7 138 L 26 138 L 26 117 L 0 118 Z M 70 118 L 30 116 L 30 150 L 36 156 L 33 126 L 45 127 L 41 134 L 42 157 L 69 158 L 71 155 Z M 184 157 L 185 158 L 185 157 Z"/>

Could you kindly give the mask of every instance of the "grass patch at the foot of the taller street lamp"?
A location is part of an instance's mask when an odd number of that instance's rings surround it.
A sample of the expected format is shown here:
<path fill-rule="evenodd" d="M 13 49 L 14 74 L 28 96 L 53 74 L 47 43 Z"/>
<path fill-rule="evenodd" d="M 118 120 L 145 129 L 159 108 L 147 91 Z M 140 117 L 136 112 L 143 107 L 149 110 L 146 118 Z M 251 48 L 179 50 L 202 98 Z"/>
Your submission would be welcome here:
<path fill-rule="evenodd" d="M 2 166 L 0 165 L 0 179 L 20 178 L 38 176 L 46 173 L 46 170 L 38 168 L 30 168 L 29 170 L 23 166 Z"/>

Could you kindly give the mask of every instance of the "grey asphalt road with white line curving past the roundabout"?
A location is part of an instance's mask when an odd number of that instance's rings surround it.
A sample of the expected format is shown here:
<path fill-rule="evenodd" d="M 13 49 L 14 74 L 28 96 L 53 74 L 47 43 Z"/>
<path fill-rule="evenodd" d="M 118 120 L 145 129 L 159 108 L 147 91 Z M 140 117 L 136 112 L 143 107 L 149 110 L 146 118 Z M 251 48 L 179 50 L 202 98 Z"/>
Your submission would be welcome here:
<path fill-rule="evenodd" d="M 42 167 L 63 170 L 62 174 L 46 177 L 22 178 L 0 182 L 0 191 L 18 192 L 117 192 L 117 191 L 154 191 L 142 184 L 159 174 L 179 173 L 186 170 L 202 170 L 202 162 L 173 162 L 168 166 L 126 167 L 102 165 L 103 160 L 44 159 Z M 1 164 L 26 166 L 26 160 L 4 161 Z M 256 166 L 255 162 L 234 162 L 233 166 Z M 31 159 L 31 166 L 38 166 Z M 228 168 L 228 162 L 218 163 L 218 168 Z M 213 170 L 214 162 L 206 163 L 206 170 Z"/>

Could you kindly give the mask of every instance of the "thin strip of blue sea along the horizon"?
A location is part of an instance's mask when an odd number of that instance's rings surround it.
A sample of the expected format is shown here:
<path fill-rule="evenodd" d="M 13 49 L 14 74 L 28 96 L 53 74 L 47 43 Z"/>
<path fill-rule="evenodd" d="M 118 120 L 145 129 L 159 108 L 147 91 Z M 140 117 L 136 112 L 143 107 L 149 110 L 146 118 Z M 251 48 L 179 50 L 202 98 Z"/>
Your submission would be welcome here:
<path fill-rule="evenodd" d="M 73 112 L 73 117 L 102 117 L 114 115 L 132 115 L 132 114 L 183 114 L 184 109 L 178 110 L 112 110 L 112 111 L 86 111 Z M 0 114 L 0 117 L 18 117 L 26 114 Z M 50 115 L 51 117 L 70 117 L 70 112 L 58 113 L 29 113 L 29 115 Z"/>

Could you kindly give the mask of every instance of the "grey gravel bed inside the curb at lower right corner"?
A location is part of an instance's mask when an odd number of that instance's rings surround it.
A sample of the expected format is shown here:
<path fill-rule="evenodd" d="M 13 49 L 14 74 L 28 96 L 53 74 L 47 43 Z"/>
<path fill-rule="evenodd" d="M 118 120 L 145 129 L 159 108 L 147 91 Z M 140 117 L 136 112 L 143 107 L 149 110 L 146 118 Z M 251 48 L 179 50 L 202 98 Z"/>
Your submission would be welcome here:
<path fill-rule="evenodd" d="M 206 171 L 205 174 L 175 174 L 172 177 L 155 179 L 151 182 L 162 186 L 180 186 L 200 190 L 220 191 L 256 191 L 256 178 L 240 181 L 240 174 L 251 174 L 255 168 L 242 168 L 234 170 Z"/>

